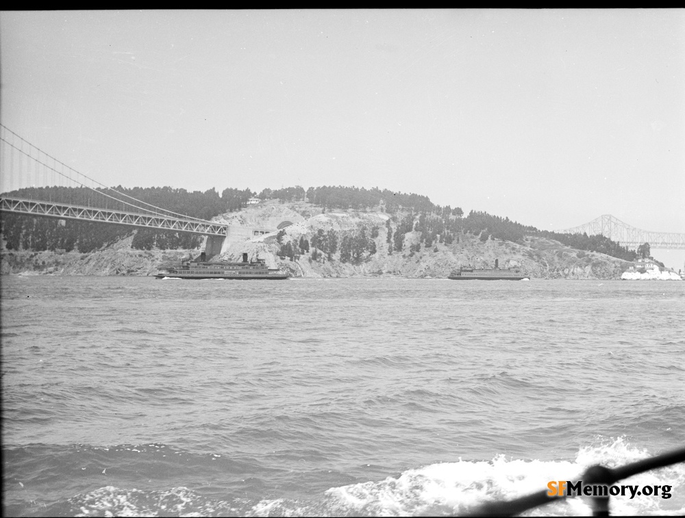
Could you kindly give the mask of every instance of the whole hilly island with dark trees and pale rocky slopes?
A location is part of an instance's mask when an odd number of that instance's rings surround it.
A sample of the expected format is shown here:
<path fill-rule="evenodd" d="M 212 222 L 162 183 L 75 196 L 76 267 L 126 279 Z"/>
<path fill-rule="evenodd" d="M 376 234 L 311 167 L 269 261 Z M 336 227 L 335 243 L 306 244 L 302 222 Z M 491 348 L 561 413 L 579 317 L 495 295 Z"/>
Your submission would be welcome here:
<path fill-rule="evenodd" d="M 239 261 L 247 252 L 293 277 L 446 278 L 460 266 L 493 268 L 499 259 L 501 268 L 521 268 L 531 279 L 620 279 L 638 258 L 602 235 L 540 231 L 377 188 L 115 191 L 122 207 L 130 197 L 229 229 L 263 229 L 237 238 L 229 231 L 213 260 Z M 118 203 L 92 194 L 83 187 L 34 187 L 8 196 L 103 208 Z M 149 276 L 206 246 L 206 237 L 190 233 L 16 213 L 3 213 L 1 237 L 2 274 Z"/>

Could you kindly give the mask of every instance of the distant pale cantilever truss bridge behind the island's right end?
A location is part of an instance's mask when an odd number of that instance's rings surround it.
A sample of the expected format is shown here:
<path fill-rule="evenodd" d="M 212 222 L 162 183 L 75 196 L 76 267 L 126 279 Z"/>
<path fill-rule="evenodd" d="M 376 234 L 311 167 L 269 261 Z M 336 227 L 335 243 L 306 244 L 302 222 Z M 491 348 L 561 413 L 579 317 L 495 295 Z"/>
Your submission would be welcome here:
<path fill-rule="evenodd" d="M 601 234 L 631 250 L 641 244 L 649 243 L 649 248 L 671 248 L 685 250 L 685 234 L 675 232 L 651 232 L 636 229 L 611 214 L 603 214 L 589 223 L 574 226 L 572 229 L 556 230 L 558 233 Z"/>

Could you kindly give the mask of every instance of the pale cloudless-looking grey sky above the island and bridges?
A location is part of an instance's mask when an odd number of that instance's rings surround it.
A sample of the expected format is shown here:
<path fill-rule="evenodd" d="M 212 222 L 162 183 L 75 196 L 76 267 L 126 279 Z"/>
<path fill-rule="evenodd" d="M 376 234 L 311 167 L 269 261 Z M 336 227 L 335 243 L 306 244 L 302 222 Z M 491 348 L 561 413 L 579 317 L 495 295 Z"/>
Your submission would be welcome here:
<path fill-rule="evenodd" d="M 380 187 L 685 233 L 685 10 L 0 16 L 3 125 L 105 185 Z"/>

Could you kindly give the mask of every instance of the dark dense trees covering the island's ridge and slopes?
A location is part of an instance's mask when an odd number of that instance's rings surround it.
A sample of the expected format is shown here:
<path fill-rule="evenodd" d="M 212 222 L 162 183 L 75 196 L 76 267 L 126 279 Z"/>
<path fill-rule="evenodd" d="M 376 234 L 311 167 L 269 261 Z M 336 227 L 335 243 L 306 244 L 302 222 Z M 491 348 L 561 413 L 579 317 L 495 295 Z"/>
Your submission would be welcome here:
<path fill-rule="evenodd" d="M 125 187 L 115 188 L 121 194 L 110 190 L 91 190 L 87 187 L 27 187 L 8 193 L 8 196 L 46 200 L 55 203 L 69 203 L 85 207 L 137 211 L 126 205 L 127 196 L 140 200 L 143 204 L 160 207 L 173 213 L 211 220 L 219 214 L 238 211 L 247 207 L 249 198 L 255 196 L 250 189 L 238 190 L 227 188 L 221 196 L 214 188 L 205 192 L 188 192 L 173 187 Z M 105 195 L 108 194 L 109 196 Z M 414 231 L 419 234 L 418 242 L 411 246 L 411 252 L 418 251 L 421 245 L 425 248 L 437 243 L 452 244 L 458 242 L 462 233 L 479 236 L 482 241 L 502 239 L 511 242 L 522 242 L 526 235 L 541 235 L 556 239 L 563 244 L 577 248 L 601 252 L 612 257 L 633 261 L 638 253 L 628 250 L 619 243 L 603 235 L 564 234 L 540 231 L 534 226 L 525 226 L 518 222 L 492 216 L 486 212 L 471 211 L 463 218 L 460 207 L 452 209 L 449 205 L 440 207 L 432 203 L 427 196 L 392 192 L 377 187 L 310 187 L 306 192 L 303 187 L 284 187 L 278 190 L 264 189 L 259 198 L 279 199 L 283 201 L 309 200 L 324 210 L 366 210 L 379 208 L 392 215 L 386 222 L 388 253 L 401 252 L 405 237 Z M 146 205 L 141 205 L 143 208 Z M 142 209 L 141 209 L 142 211 Z M 3 213 L 1 232 L 10 250 L 55 250 L 64 249 L 90 252 L 116 240 L 131 235 L 133 227 L 112 225 L 98 222 L 77 220 L 57 220 L 56 218 L 37 218 L 18 214 Z M 327 257 L 340 251 L 340 260 L 355 263 L 375 253 L 375 238 L 378 227 L 363 229 L 352 233 L 338 233 L 330 230 L 317 231 L 311 243 L 280 243 L 279 254 L 291 259 L 296 255 L 309 252 L 312 248 L 312 259 Z M 199 235 L 175 231 L 156 231 L 138 229 L 134 236 L 134 248 L 149 250 L 151 248 L 196 248 L 201 242 Z M 373 244 L 372 244 L 373 243 Z M 646 245 L 646 246 L 645 246 Z M 640 255 L 649 255 L 649 245 L 641 246 Z M 290 248 L 288 248 L 290 246 Z M 373 252 L 371 251 L 373 248 Z"/>

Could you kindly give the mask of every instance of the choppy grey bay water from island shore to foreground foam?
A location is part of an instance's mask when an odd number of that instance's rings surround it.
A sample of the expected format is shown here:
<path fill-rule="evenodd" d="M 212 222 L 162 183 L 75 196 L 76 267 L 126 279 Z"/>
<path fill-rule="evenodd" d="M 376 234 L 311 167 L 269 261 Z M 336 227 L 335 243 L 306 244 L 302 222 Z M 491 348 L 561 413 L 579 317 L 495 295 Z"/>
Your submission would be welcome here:
<path fill-rule="evenodd" d="M 452 515 L 685 444 L 685 283 L 1 289 L 5 515 Z M 684 513 L 682 464 L 623 483 Z"/>

